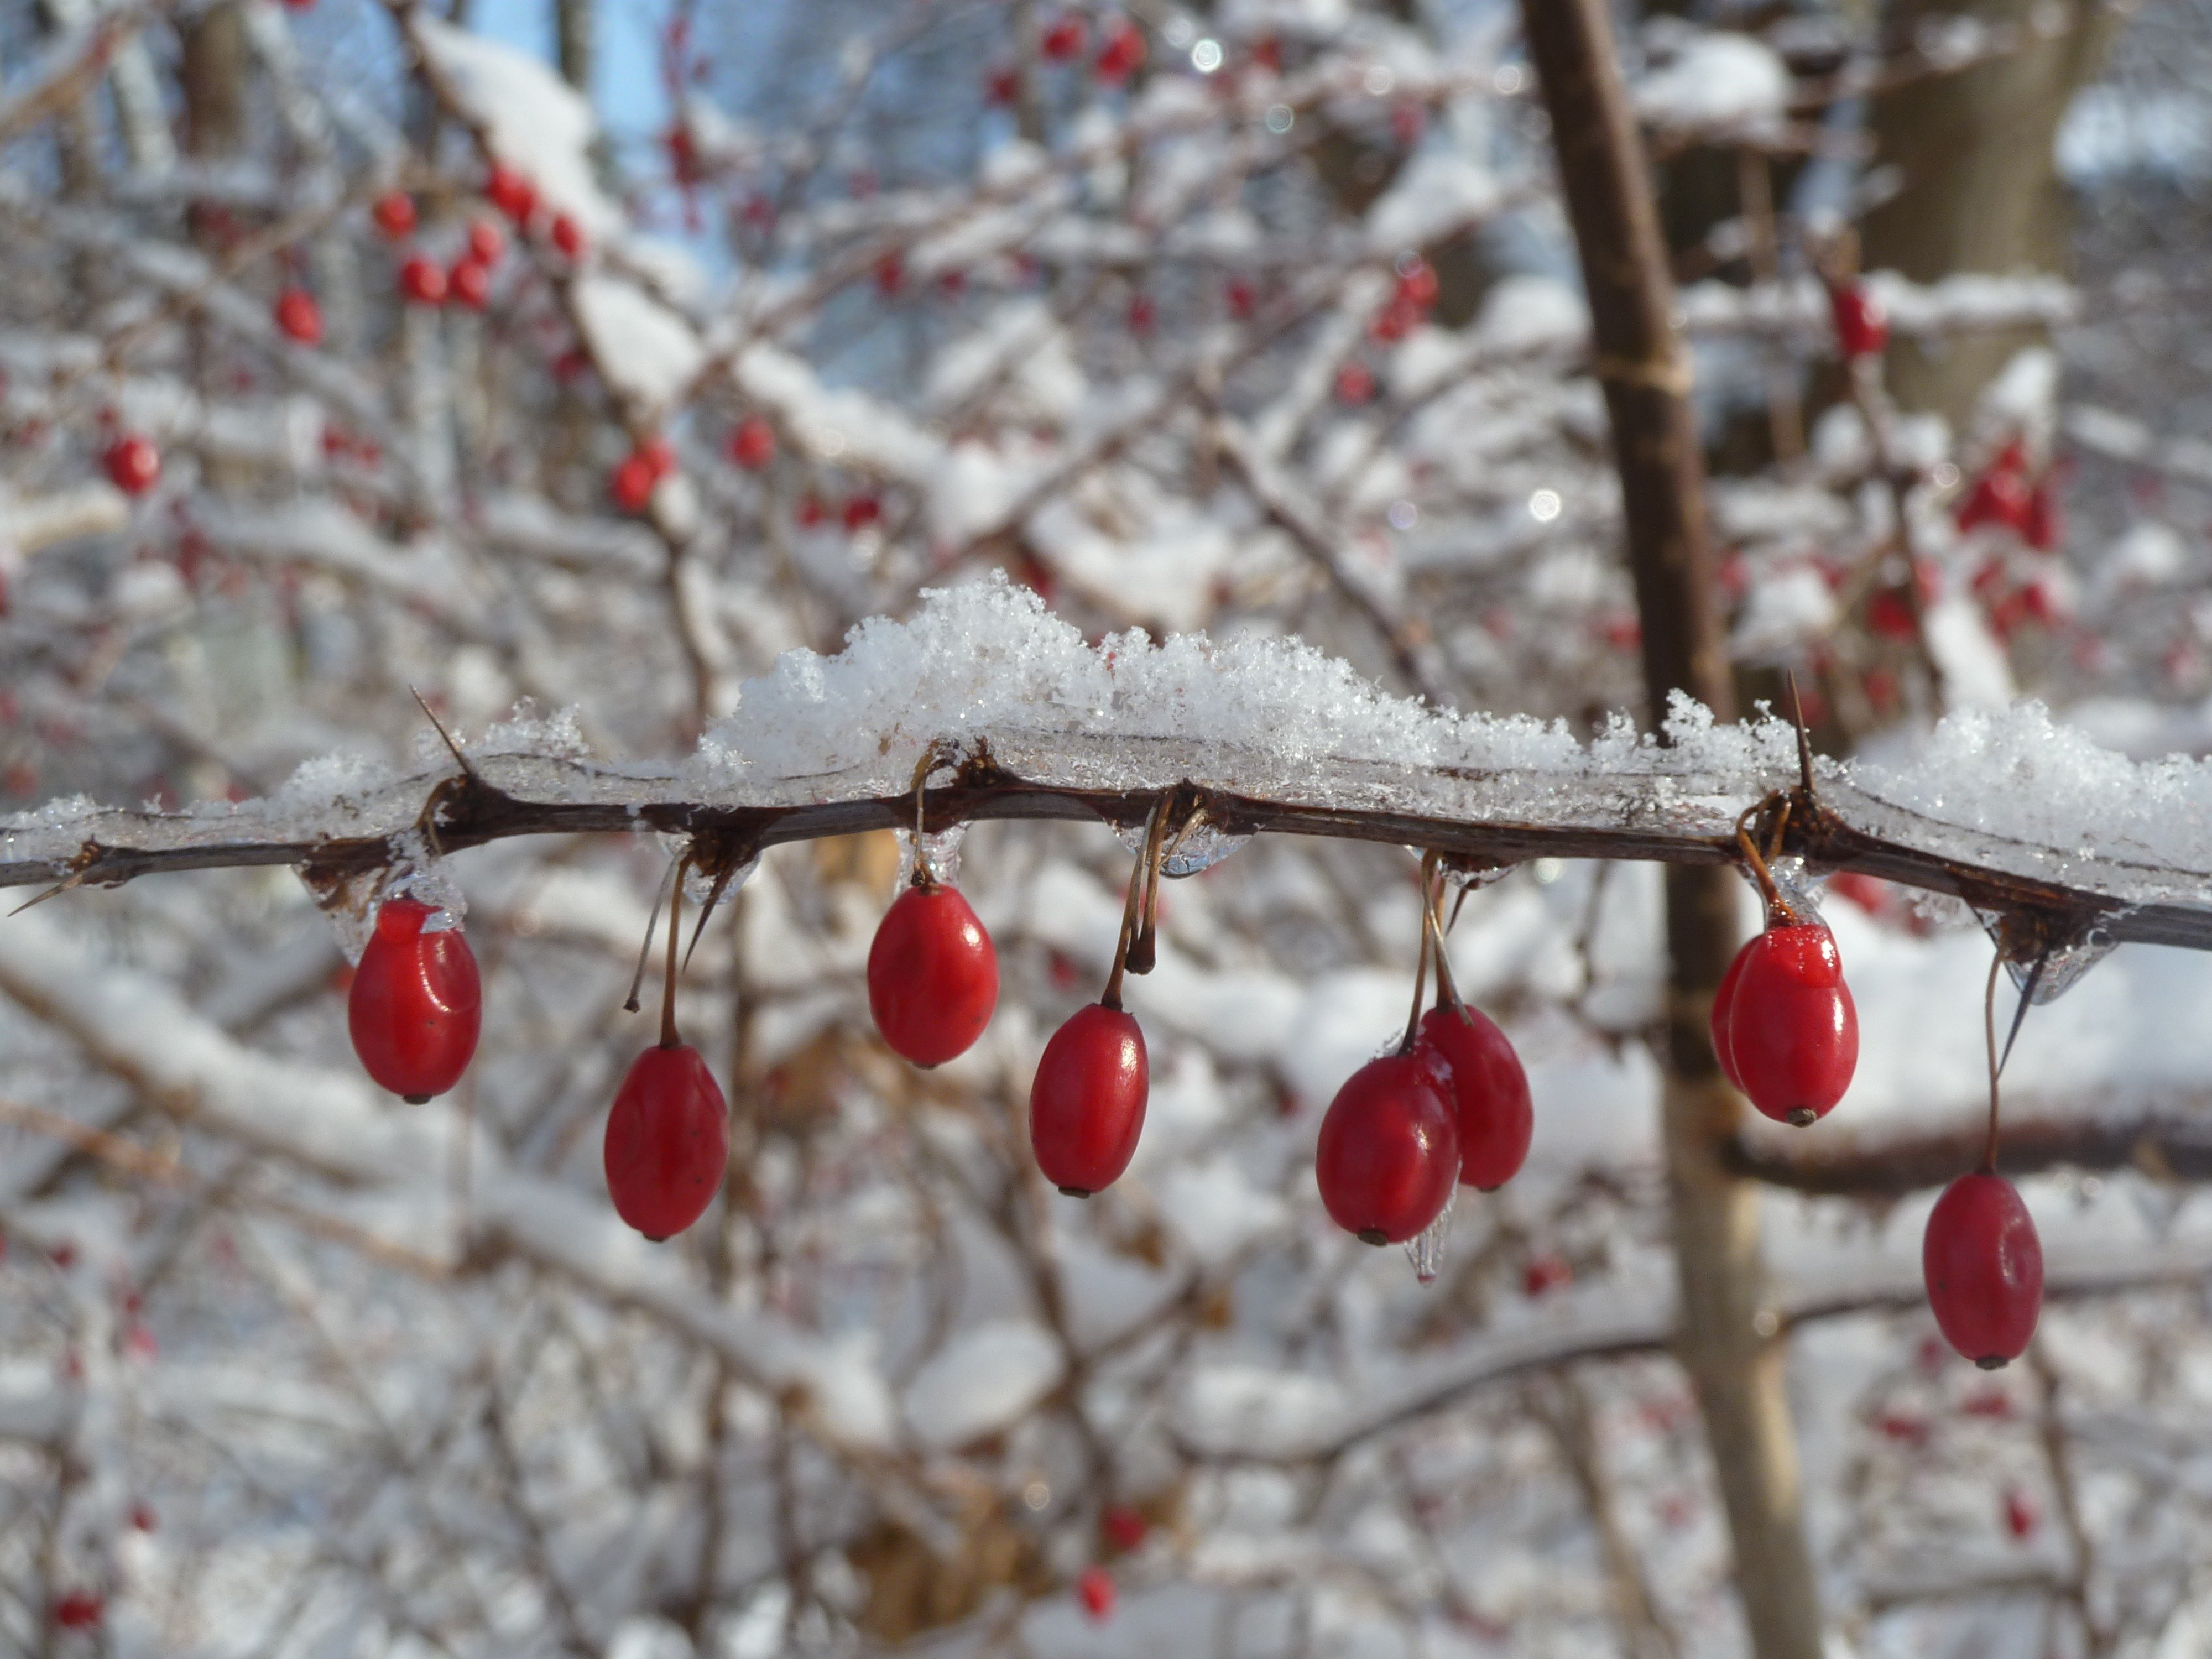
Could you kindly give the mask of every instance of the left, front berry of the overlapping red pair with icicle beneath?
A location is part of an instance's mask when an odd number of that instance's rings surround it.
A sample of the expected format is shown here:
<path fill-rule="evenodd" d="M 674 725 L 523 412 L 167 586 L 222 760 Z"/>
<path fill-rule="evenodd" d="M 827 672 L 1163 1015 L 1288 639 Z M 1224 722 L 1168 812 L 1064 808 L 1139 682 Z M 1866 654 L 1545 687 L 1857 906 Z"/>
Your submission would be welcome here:
<path fill-rule="evenodd" d="M 1336 1091 L 1314 1150 L 1321 1203 L 1367 1243 L 1405 1243 L 1460 1179 L 1460 1130 L 1422 1053 L 1369 1060 Z"/>

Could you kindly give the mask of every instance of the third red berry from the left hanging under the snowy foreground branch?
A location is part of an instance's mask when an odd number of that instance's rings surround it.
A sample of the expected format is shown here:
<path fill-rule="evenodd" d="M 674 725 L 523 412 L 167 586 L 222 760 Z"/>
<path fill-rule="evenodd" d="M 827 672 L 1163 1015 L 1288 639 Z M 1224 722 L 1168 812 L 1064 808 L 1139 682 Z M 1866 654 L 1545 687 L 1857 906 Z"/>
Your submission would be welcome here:
<path fill-rule="evenodd" d="M 867 1009 L 891 1053 L 916 1066 L 964 1055 L 998 1006 L 998 951 L 958 887 L 898 896 L 867 947 Z"/>

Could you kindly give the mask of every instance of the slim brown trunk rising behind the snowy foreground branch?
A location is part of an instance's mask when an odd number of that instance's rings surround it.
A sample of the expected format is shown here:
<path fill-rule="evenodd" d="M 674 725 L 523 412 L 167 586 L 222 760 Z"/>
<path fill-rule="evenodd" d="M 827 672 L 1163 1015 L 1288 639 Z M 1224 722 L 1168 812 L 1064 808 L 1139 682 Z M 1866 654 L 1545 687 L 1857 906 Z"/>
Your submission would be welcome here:
<path fill-rule="evenodd" d="M 1657 723 L 1686 690 L 1734 714 L 1712 593 L 1705 478 L 1688 358 L 1670 327 L 1672 283 L 1644 148 L 1615 62 L 1606 0 L 1522 0 L 1522 29 L 1551 113 L 1582 276 L 1595 374 L 1606 389 L 1628 564 L 1644 624 L 1644 686 Z M 1820 1597 L 1805 1546 L 1796 1442 L 1772 1321 L 1761 1329 L 1759 1192 L 1723 1148 L 1743 1104 L 1705 1037 L 1736 949 L 1736 876 L 1668 869 L 1663 1119 L 1677 1354 L 1697 1389 L 1728 1506 L 1736 1588 L 1761 1659 L 1820 1659 Z"/>

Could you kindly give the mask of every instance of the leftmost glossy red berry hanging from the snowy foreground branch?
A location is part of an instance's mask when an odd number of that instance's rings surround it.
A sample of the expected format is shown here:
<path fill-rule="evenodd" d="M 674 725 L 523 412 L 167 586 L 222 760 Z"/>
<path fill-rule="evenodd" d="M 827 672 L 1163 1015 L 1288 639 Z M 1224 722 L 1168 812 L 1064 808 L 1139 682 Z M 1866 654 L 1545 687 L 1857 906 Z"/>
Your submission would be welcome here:
<path fill-rule="evenodd" d="M 416 1106 L 460 1082 L 484 1018 L 467 936 L 458 927 L 425 933 L 431 916 L 420 898 L 387 898 L 345 995 L 363 1068 Z"/>

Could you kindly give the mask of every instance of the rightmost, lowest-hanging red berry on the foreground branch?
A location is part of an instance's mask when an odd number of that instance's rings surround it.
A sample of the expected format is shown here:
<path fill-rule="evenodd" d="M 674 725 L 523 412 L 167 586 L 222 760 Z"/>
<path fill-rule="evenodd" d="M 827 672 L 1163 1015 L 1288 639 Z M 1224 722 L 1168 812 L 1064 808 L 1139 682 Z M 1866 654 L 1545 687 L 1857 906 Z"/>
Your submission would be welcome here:
<path fill-rule="evenodd" d="M 2044 1245 L 2000 1175 L 1962 1175 L 1929 1212 L 1920 1272 L 1944 1340 L 1995 1371 L 2017 1360 L 2044 1307 Z"/>

